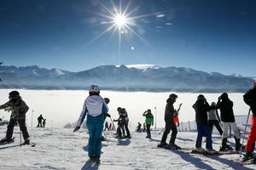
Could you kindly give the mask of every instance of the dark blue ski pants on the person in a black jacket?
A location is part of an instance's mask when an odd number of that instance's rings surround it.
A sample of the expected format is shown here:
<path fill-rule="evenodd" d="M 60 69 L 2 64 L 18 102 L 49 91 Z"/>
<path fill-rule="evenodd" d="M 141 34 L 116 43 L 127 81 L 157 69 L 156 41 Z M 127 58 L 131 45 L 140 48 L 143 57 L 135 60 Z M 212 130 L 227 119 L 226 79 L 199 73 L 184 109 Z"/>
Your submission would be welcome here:
<path fill-rule="evenodd" d="M 207 137 L 207 149 L 212 149 L 212 133 L 210 126 L 208 124 L 203 125 L 203 124 L 196 124 L 197 126 L 197 139 L 196 139 L 196 144 L 201 144 L 202 137 L 205 134 Z M 199 146 L 200 147 L 200 146 Z"/>

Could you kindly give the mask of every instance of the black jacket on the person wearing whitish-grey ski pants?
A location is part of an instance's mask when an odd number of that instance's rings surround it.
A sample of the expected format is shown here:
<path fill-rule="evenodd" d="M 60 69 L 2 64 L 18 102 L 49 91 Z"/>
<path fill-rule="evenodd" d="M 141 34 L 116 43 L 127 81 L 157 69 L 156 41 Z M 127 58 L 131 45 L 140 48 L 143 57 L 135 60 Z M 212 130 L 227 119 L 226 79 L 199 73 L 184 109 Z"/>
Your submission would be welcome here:
<path fill-rule="evenodd" d="M 220 119 L 222 122 L 235 122 L 233 102 L 230 99 L 218 101 L 216 108 L 220 110 Z"/>

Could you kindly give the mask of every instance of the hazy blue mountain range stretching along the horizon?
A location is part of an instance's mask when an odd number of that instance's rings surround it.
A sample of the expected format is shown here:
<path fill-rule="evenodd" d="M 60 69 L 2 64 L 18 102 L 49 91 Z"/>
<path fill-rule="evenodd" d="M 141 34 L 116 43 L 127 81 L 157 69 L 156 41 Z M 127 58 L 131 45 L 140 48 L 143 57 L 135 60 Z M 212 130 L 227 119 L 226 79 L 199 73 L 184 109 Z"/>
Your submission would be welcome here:
<path fill-rule="evenodd" d="M 88 89 L 98 84 L 102 89 L 116 91 L 192 93 L 245 92 L 253 82 L 253 77 L 159 65 L 100 65 L 79 72 L 2 65 L 0 77 L 0 88 Z"/>

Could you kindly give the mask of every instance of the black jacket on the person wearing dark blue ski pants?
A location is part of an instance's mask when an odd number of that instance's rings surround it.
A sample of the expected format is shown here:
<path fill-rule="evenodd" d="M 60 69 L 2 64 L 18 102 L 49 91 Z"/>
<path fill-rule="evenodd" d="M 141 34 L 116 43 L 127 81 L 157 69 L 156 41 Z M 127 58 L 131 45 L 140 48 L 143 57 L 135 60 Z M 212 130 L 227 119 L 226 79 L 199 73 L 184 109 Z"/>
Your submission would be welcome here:
<path fill-rule="evenodd" d="M 195 122 L 197 124 L 206 125 L 208 123 L 207 111 L 211 110 L 211 106 L 207 101 L 198 99 L 192 107 L 195 109 Z"/>

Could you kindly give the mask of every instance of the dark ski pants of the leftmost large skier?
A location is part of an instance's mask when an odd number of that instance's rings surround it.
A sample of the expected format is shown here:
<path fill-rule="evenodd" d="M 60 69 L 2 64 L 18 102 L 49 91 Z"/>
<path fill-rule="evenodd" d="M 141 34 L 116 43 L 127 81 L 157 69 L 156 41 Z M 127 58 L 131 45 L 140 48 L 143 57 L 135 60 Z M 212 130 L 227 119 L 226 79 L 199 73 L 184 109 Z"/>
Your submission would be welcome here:
<path fill-rule="evenodd" d="M 12 119 L 12 118 L 9 120 L 9 125 L 7 127 L 7 132 L 6 132 L 6 138 L 12 138 L 16 122 L 19 122 L 20 131 L 22 132 L 23 139 L 28 139 L 29 135 L 27 133 L 25 119 Z"/>

